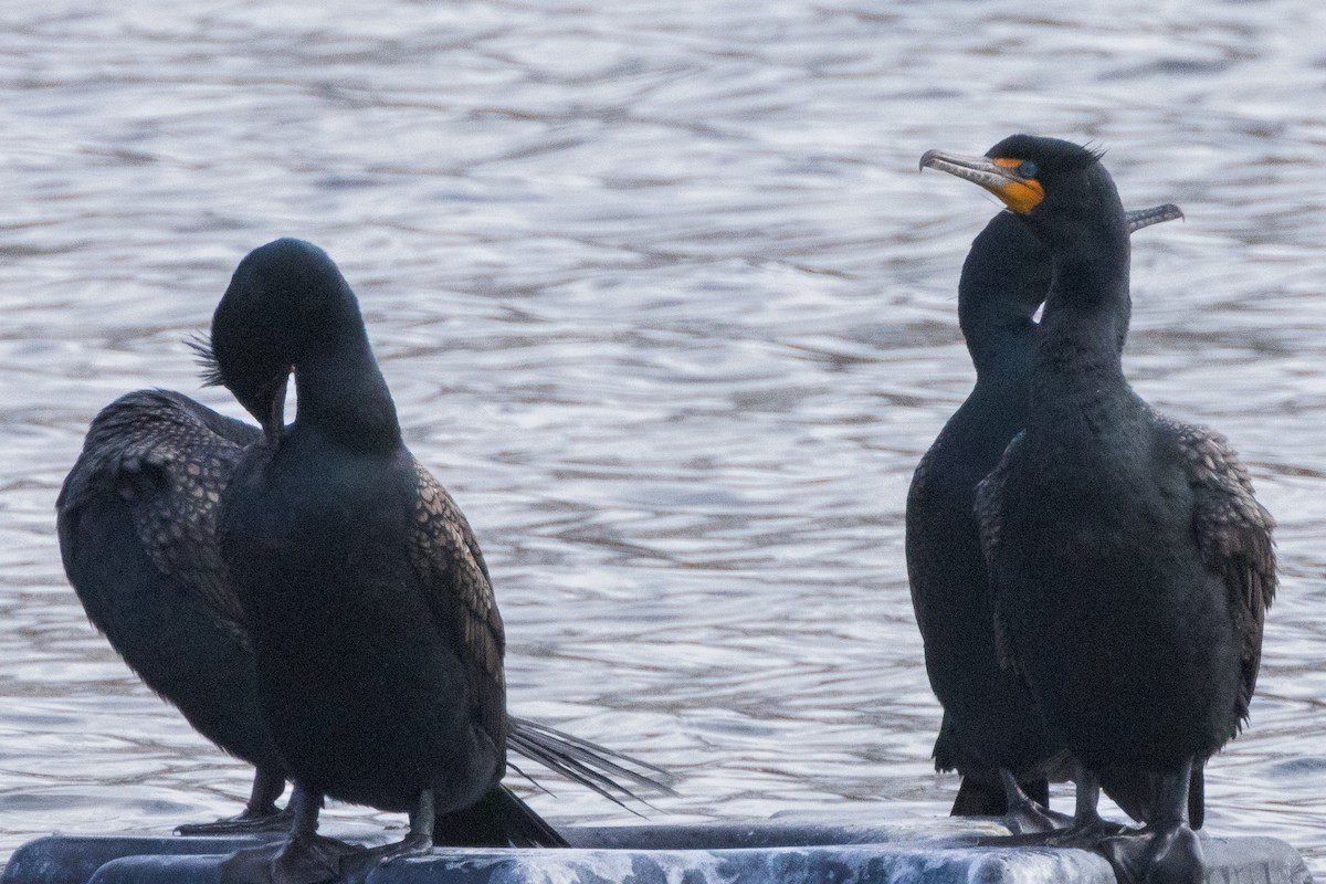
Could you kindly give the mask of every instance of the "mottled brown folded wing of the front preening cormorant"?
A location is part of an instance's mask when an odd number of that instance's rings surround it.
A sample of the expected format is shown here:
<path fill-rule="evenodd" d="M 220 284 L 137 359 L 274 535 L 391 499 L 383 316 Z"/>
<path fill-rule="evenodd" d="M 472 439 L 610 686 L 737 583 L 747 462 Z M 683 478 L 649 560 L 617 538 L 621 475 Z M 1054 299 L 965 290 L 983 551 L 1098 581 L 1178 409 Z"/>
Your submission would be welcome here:
<path fill-rule="evenodd" d="M 460 508 L 436 478 L 415 463 L 416 494 L 410 562 L 443 628 L 464 648 L 469 694 L 493 745 L 507 745 L 507 639 L 483 553 Z"/>

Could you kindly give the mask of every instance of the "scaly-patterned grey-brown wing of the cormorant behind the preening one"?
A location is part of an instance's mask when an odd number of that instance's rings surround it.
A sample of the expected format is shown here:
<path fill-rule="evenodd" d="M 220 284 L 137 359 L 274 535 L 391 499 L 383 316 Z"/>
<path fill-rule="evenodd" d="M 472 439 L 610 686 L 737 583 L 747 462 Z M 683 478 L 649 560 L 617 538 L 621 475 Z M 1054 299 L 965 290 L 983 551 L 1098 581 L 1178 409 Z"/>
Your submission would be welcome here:
<path fill-rule="evenodd" d="M 56 501 L 61 551 L 74 561 L 74 525 L 97 494 L 115 493 L 133 514 L 143 551 L 162 574 L 198 598 L 245 647 L 244 612 L 216 543 L 221 497 L 244 447 L 263 432 L 188 396 L 139 390 L 93 420 L 78 463 Z M 70 573 L 80 594 L 106 598 L 123 575 Z"/>

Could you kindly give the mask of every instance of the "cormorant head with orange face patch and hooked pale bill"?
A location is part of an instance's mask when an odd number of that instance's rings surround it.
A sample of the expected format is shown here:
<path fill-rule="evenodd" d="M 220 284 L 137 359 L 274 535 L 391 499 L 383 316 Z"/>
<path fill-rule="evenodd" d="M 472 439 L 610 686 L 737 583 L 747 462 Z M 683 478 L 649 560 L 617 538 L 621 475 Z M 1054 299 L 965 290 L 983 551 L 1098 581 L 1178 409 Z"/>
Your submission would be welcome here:
<path fill-rule="evenodd" d="M 1127 220 L 1114 180 L 1101 164 L 1103 151 L 1058 138 L 1010 135 L 985 156 L 926 151 L 922 168 L 937 168 L 980 184 L 1037 236 L 1054 245 L 1083 228 L 1127 233 Z"/>

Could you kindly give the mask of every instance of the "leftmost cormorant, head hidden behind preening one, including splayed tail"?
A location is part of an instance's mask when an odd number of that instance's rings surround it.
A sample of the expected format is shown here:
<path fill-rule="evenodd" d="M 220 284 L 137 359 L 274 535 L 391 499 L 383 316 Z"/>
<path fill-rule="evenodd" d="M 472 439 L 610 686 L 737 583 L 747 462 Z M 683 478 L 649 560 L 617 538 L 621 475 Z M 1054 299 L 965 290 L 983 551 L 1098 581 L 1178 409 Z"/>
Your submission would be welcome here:
<path fill-rule="evenodd" d="M 282 394 L 245 395 L 278 416 Z M 263 439 L 180 394 L 129 394 L 93 421 L 57 501 L 65 569 L 89 619 L 200 733 L 257 767 L 239 818 L 180 827 L 187 834 L 288 827 L 274 806 L 286 769 L 259 710 L 252 641 L 217 537 L 235 469 Z M 666 774 L 650 765 L 514 716 L 505 746 L 613 801 L 634 797 L 631 786 L 667 790 Z M 434 838 L 561 842 L 504 790 L 438 814 Z"/>

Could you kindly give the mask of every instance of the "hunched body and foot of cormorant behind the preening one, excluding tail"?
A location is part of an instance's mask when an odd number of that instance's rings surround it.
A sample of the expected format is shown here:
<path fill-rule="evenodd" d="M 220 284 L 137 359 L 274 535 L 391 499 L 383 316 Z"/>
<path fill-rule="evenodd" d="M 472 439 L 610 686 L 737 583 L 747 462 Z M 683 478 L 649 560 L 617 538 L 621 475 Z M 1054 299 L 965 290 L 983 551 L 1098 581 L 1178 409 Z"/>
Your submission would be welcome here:
<path fill-rule="evenodd" d="M 257 769 L 235 820 L 251 828 L 277 816 L 285 763 L 261 725 L 247 639 L 213 611 L 239 616 L 216 520 L 240 452 L 261 437 L 187 396 L 133 392 L 93 421 L 56 502 L 65 573 L 93 626 L 200 734 Z"/>

